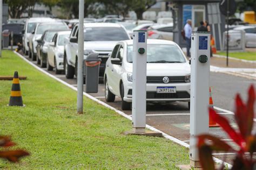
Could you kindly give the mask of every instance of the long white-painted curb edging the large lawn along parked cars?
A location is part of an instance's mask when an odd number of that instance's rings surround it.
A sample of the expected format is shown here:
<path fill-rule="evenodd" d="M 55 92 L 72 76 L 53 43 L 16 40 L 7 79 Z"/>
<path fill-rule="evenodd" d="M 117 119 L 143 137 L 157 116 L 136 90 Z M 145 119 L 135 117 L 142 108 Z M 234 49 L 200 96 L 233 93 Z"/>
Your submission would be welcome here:
<path fill-rule="evenodd" d="M 76 87 L 73 87 L 73 86 L 71 86 L 70 84 L 66 83 L 65 81 L 60 80 L 60 79 L 58 79 L 57 77 L 53 76 L 52 74 L 46 72 L 45 70 L 43 70 L 42 68 L 36 66 L 34 63 L 30 62 L 30 61 L 27 60 L 23 55 L 17 53 L 16 51 L 13 51 L 13 52 L 14 52 L 15 54 L 17 54 L 20 58 L 22 58 L 25 62 L 29 63 L 29 65 L 31 65 L 32 67 L 38 69 L 39 71 L 41 71 L 42 73 L 44 73 L 44 74 L 46 74 L 46 75 L 48 75 L 48 76 L 50 76 L 50 77 L 52 77 L 53 79 L 57 80 L 58 82 L 65 84 L 65 85 L 68 86 L 69 88 L 71 88 L 71 89 L 77 91 L 77 88 L 76 88 Z M 118 110 L 118 109 L 116 109 L 116 108 L 111 107 L 110 105 L 108 105 L 108 104 L 106 104 L 106 103 L 104 103 L 104 102 L 98 100 L 97 98 L 95 98 L 95 97 L 93 97 L 93 96 L 91 96 L 91 95 L 89 95 L 89 94 L 87 94 L 87 93 L 85 93 L 85 92 L 83 92 L 83 95 L 86 96 L 86 97 L 88 97 L 88 98 L 90 98 L 91 100 L 93 100 L 93 101 L 99 103 L 99 104 L 104 105 L 105 107 L 107 107 L 107 108 L 109 108 L 109 109 L 111 109 L 111 110 L 117 112 L 119 115 L 122 115 L 123 117 L 125 117 L 125 118 L 129 119 L 130 121 L 132 121 L 132 117 L 130 117 L 129 115 L 126 115 L 124 112 L 122 112 L 122 111 L 120 111 L 120 110 Z M 163 137 L 165 137 L 166 139 L 172 140 L 174 143 L 177 143 L 177 144 L 179 144 L 179 145 L 181 145 L 181 146 L 184 146 L 184 147 L 186 147 L 186 148 L 190 148 L 190 145 L 188 145 L 188 144 L 185 143 L 184 141 L 181 141 L 181 140 L 179 140 L 179 139 L 177 139 L 177 138 L 174 138 L 174 137 L 170 136 L 169 134 L 166 134 L 166 133 L 164 133 L 164 132 L 162 132 L 162 131 L 160 131 L 160 130 L 154 128 L 153 126 L 150 126 L 150 125 L 147 125 L 147 124 L 146 124 L 146 128 L 147 128 L 147 129 L 150 129 L 150 130 L 152 130 L 152 131 L 156 131 L 156 132 L 162 133 L 162 134 L 163 134 Z M 226 166 L 227 166 L 228 168 L 230 168 L 230 169 L 232 168 L 232 165 L 228 164 L 227 162 L 224 162 L 223 160 L 220 160 L 220 159 L 215 158 L 215 157 L 213 157 L 213 160 L 214 160 L 215 162 L 219 163 L 219 164 L 224 164 L 224 165 L 226 165 Z"/>

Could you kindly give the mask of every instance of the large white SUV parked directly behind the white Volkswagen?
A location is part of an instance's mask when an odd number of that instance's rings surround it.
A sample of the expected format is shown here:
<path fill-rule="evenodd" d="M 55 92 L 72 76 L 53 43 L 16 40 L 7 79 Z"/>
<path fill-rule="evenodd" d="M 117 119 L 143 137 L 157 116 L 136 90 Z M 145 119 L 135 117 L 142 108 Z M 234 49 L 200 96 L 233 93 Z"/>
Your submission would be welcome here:
<path fill-rule="evenodd" d="M 67 79 L 77 75 L 78 56 L 78 25 L 76 24 L 64 45 L 64 72 Z M 84 59 L 90 53 L 98 53 L 102 60 L 99 66 L 99 76 L 103 77 L 105 63 L 113 47 L 121 40 L 131 37 L 122 25 L 116 23 L 84 23 Z"/>

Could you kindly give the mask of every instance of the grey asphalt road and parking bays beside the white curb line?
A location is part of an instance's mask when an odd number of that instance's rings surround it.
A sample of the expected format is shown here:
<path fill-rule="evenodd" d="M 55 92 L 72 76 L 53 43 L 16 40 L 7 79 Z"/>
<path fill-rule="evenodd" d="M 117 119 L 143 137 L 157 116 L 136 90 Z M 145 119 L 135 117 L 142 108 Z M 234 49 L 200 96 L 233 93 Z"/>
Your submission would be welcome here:
<path fill-rule="evenodd" d="M 28 56 L 25 56 L 28 60 Z M 31 61 L 35 63 L 36 61 Z M 44 68 L 46 70 L 46 68 Z M 52 75 L 55 75 L 61 80 L 68 82 L 72 86 L 77 87 L 76 79 L 66 79 L 64 74 L 56 75 L 53 71 L 47 71 Z M 234 98 L 237 93 L 240 93 L 242 98 L 247 97 L 247 88 L 250 84 L 256 82 L 254 80 L 237 77 L 233 75 L 228 75 L 224 73 L 211 73 L 210 74 L 210 86 L 212 87 L 212 97 L 215 107 L 233 111 Z M 84 85 L 85 90 L 85 85 Z M 104 84 L 99 84 L 99 89 L 97 94 L 90 94 L 98 100 L 105 101 L 104 97 Z M 121 110 L 121 100 L 119 97 L 116 97 L 115 102 L 107 103 L 118 110 Z M 127 115 L 131 115 L 131 111 L 123 111 Z M 225 112 L 220 111 L 218 112 Z M 189 143 L 190 133 L 189 133 L 189 123 L 190 123 L 190 110 L 188 110 L 187 102 L 166 102 L 166 103 L 147 103 L 147 116 L 146 123 L 157 128 L 171 136 L 178 138 L 186 143 Z M 232 123 L 232 126 L 237 129 L 237 126 L 234 123 L 233 115 L 225 115 L 229 121 Z M 255 126 L 254 126 L 254 129 Z M 223 132 L 220 128 L 211 128 L 210 133 L 214 136 L 219 136 L 223 139 L 229 139 L 226 136 L 226 133 Z M 228 143 L 234 145 L 231 141 Z M 223 155 L 215 155 L 215 157 L 223 159 Z M 228 155 L 226 159 L 227 162 L 231 164 L 231 159 L 234 157 L 233 154 Z"/>

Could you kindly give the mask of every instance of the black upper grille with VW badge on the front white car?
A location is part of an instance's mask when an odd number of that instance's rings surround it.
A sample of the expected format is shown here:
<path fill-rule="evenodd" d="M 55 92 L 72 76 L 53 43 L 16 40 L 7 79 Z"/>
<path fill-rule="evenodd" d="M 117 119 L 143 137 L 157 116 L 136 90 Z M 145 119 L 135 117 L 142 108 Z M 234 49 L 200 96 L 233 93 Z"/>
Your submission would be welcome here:
<path fill-rule="evenodd" d="M 165 76 L 147 76 L 147 83 L 164 83 Z M 168 76 L 169 83 L 186 83 L 185 76 Z M 166 83 L 167 84 L 167 83 Z"/>

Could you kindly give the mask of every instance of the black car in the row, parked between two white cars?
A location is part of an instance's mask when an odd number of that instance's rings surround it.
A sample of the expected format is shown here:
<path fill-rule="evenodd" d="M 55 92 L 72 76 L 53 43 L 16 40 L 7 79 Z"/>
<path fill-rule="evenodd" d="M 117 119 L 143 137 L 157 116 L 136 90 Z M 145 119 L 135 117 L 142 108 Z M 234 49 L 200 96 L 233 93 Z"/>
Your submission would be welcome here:
<path fill-rule="evenodd" d="M 46 67 L 47 63 L 47 51 L 48 51 L 48 44 L 52 41 L 53 36 L 58 31 L 66 31 L 66 30 L 47 30 L 43 33 L 42 37 L 37 39 L 37 56 L 36 60 L 37 63 L 40 64 L 40 66 Z"/>

